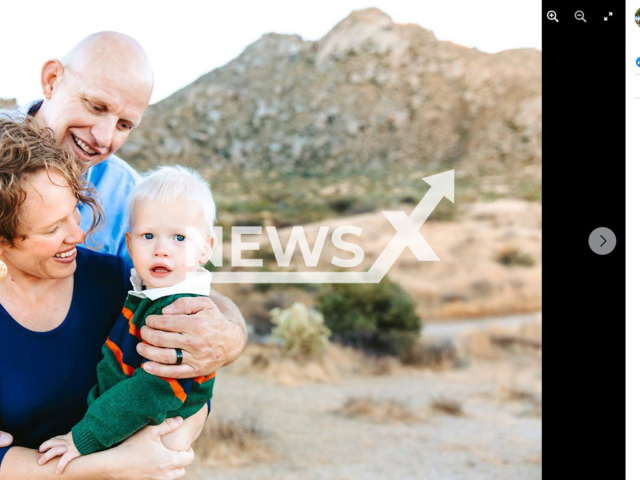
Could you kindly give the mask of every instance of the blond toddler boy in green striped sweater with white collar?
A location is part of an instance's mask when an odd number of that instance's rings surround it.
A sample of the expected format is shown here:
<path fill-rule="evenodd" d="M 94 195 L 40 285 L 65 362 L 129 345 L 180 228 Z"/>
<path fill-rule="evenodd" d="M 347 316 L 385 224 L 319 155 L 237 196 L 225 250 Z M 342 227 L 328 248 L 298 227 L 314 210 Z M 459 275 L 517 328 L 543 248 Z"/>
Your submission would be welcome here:
<path fill-rule="evenodd" d="M 136 345 L 148 315 L 161 314 L 179 297 L 209 295 L 211 273 L 200 265 L 215 244 L 215 211 L 207 182 L 184 167 L 160 167 L 131 192 L 126 242 L 134 289 L 102 347 L 87 413 L 70 433 L 40 446 L 46 453 L 38 463 L 62 455 L 56 470 L 62 473 L 74 458 L 110 448 L 167 417 L 187 418 L 211 398 L 215 372 L 182 380 L 151 375 Z M 180 349 L 176 358 L 180 364 Z"/>

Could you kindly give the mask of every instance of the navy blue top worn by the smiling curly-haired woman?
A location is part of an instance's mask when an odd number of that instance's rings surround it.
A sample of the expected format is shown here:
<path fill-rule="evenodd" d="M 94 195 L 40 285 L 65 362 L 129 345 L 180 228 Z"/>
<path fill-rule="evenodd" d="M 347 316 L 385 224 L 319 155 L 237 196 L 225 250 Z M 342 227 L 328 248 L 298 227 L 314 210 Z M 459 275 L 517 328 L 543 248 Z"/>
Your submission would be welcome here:
<path fill-rule="evenodd" d="M 0 305 L 0 430 L 13 446 L 36 449 L 82 419 L 102 344 L 131 289 L 131 265 L 120 257 L 82 248 L 76 265 L 71 307 L 53 330 L 28 330 Z M 0 448 L 0 464 L 9 448 Z"/>

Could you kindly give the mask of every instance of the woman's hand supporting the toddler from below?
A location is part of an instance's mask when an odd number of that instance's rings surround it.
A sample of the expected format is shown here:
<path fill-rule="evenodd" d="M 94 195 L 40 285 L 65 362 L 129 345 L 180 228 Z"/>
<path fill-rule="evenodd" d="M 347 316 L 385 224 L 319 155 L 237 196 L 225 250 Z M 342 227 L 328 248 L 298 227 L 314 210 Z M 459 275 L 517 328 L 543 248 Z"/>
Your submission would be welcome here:
<path fill-rule="evenodd" d="M 185 468 L 194 462 L 193 450 L 174 452 L 162 445 L 161 437 L 182 425 L 182 418 L 167 418 L 157 426 L 145 427 L 111 450 L 96 455 L 113 470 L 111 477 L 121 480 L 168 480 L 182 478 Z M 87 458 L 91 458 L 89 455 Z M 103 459 L 105 461 L 105 459 Z"/>

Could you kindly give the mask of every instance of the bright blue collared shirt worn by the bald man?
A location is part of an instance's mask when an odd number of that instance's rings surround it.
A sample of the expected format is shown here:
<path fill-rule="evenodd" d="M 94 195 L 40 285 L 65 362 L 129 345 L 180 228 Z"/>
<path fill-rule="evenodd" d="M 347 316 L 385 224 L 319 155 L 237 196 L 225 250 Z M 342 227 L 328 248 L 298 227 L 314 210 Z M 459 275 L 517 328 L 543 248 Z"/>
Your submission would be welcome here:
<path fill-rule="evenodd" d="M 41 106 L 42 100 L 27 103 L 12 116 L 17 118 L 19 115 L 35 115 Z M 111 155 L 89 168 L 86 178 L 96 187 L 99 194 L 98 201 L 106 216 L 105 225 L 92 235 L 93 242 L 87 239 L 87 243 L 100 252 L 119 255 L 131 261 L 124 235 L 129 230 L 127 198 L 133 187 L 140 182 L 140 174 L 121 158 Z M 81 204 L 80 213 L 82 214 L 80 228 L 86 232 L 91 226 L 91 209 Z"/>

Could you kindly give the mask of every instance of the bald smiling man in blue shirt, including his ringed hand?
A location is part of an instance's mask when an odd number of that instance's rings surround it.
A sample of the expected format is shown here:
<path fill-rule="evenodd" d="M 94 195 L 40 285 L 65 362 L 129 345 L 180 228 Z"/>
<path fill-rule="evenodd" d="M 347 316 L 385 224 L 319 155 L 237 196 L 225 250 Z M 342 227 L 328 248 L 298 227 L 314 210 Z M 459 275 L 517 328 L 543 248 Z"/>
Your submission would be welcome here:
<path fill-rule="evenodd" d="M 62 60 L 47 61 L 41 83 L 44 99 L 12 115 L 35 117 L 90 165 L 87 178 L 100 194 L 106 213 L 105 228 L 93 236 L 93 242 L 103 252 L 128 259 L 125 203 L 140 176 L 114 153 L 140 124 L 149 104 L 153 89 L 149 59 L 131 37 L 100 32 L 85 38 Z M 83 207 L 81 227 L 86 231 L 91 214 Z M 147 318 L 148 326 L 141 330 L 146 343 L 138 350 L 150 360 L 145 370 L 162 377 L 193 378 L 234 361 L 246 345 L 246 326 L 235 304 L 215 292 L 211 299 L 180 300 L 166 307 L 163 315 Z M 177 365 L 180 353 L 182 362 Z M 196 423 L 191 427 L 195 436 L 205 417 L 203 410 L 188 419 Z M 11 441 L 9 434 L 0 432 L 0 447 Z"/>

